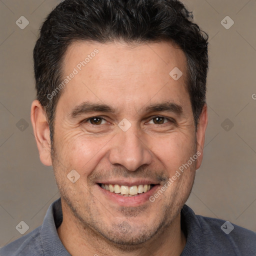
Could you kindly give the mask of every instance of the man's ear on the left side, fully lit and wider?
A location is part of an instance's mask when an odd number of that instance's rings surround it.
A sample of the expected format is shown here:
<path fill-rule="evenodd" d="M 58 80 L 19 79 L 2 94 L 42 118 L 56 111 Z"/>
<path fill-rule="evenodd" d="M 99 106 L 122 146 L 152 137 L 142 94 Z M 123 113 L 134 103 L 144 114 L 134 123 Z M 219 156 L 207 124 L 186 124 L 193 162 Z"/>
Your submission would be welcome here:
<path fill-rule="evenodd" d="M 31 123 L 40 160 L 44 165 L 50 166 L 50 131 L 44 108 L 38 100 L 34 100 L 31 105 Z"/>

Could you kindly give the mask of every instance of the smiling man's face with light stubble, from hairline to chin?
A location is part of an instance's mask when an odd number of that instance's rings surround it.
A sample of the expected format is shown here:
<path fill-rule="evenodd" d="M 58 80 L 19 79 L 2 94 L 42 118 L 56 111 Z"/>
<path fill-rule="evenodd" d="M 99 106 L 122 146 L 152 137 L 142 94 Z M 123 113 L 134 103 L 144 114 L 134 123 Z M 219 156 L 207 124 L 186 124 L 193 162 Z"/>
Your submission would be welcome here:
<path fill-rule="evenodd" d="M 88 54 L 95 56 L 79 70 Z M 63 207 L 80 226 L 115 243 L 148 240 L 178 217 L 200 164 L 193 161 L 149 200 L 198 149 L 185 55 L 167 42 L 76 42 L 63 63 L 64 76 L 78 71 L 62 91 L 54 123 L 52 165 Z M 169 75 L 174 67 L 183 72 L 178 80 Z M 71 170 L 80 175 L 74 183 Z M 101 184 L 130 193 L 153 186 L 124 196 Z"/>

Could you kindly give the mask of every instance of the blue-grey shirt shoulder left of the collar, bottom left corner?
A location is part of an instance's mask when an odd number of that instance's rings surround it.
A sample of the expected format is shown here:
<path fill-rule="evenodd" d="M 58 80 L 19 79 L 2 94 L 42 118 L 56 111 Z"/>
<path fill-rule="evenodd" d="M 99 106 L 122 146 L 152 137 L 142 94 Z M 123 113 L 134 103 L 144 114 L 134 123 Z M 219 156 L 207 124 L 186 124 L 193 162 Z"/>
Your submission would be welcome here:
<path fill-rule="evenodd" d="M 35 256 L 43 255 L 40 238 L 41 226 L 28 234 L 8 243 L 0 249 L 0 256 Z"/>

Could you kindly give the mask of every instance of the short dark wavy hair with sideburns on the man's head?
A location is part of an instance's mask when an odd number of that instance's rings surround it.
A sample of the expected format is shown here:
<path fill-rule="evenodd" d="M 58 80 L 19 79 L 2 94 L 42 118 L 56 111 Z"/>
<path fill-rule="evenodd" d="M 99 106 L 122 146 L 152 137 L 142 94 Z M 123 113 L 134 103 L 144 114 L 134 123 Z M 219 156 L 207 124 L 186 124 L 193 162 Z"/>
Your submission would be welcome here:
<path fill-rule="evenodd" d="M 74 41 L 128 43 L 171 41 L 187 59 L 186 88 L 194 123 L 205 103 L 208 71 L 208 35 L 192 22 L 193 14 L 179 0 L 64 0 L 47 16 L 40 28 L 33 59 L 37 99 L 44 107 L 51 139 L 61 83 L 62 60 Z"/>

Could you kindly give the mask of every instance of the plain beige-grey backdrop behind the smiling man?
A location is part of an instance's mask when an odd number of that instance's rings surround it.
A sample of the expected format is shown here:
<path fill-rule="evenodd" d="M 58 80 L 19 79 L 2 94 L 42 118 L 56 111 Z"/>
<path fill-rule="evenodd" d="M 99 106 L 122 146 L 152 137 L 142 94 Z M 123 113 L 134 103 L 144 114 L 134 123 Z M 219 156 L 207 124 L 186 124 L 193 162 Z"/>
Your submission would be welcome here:
<path fill-rule="evenodd" d="M 21 236 L 15 229 L 21 220 L 28 231 L 40 225 L 59 196 L 52 168 L 39 161 L 29 113 L 32 49 L 58 2 L 0 0 L 0 247 Z M 204 160 L 187 204 L 256 231 L 256 0 L 183 2 L 210 42 Z M 221 24 L 227 15 L 234 21 L 229 29 Z M 20 16 L 29 21 L 24 29 L 15 23 Z"/>

